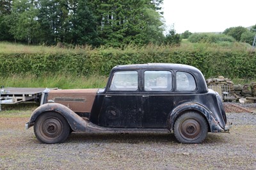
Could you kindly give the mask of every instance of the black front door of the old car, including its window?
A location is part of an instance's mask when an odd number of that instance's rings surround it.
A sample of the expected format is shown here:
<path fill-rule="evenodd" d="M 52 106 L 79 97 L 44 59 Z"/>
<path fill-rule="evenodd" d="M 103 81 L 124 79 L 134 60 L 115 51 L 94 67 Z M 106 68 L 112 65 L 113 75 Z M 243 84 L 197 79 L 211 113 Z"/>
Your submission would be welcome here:
<path fill-rule="evenodd" d="M 140 70 L 116 71 L 111 75 L 102 105 L 105 127 L 138 128 L 142 125 Z"/>

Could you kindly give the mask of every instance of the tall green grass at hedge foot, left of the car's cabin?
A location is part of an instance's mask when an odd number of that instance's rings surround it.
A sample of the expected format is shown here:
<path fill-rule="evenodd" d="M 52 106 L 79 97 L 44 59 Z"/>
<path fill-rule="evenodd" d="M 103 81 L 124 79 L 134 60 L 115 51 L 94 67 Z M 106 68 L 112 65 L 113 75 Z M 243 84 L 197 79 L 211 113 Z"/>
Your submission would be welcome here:
<path fill-rule="evenodd" d="M 107 77 L 92 75 L 90 77 L 76 75 L 10 75 L 0 77 L 0 85 L 15 88 L 60 88 L 60 89 L 80 89 L 80 88 L 104 88 Z"/>

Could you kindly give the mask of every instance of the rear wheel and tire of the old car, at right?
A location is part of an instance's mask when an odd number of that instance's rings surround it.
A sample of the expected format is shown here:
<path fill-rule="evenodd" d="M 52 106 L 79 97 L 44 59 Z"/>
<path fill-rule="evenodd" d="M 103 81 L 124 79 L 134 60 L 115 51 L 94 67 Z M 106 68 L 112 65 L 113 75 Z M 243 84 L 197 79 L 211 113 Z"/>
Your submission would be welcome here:
<path fill-rule="evenodd" d="M 186 112 L 175 121 L 173 131 L 180 143 L 202 143 L 208 133 L 208 124 L 197 112 Z"/>

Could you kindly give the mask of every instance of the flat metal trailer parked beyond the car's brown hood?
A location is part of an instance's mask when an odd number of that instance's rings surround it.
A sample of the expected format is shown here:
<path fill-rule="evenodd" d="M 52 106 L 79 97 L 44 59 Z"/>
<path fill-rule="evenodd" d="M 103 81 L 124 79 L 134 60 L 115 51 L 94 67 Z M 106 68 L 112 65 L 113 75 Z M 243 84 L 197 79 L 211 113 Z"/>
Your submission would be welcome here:
<path fill-rule="evenodd" d="M 58 88 L 54 88 L 58 89 Z M 19 104 L 21 102 L 40 102 L 40 98 L 48 88 L 2 88 L 0 91 L 1 104 Z"/>

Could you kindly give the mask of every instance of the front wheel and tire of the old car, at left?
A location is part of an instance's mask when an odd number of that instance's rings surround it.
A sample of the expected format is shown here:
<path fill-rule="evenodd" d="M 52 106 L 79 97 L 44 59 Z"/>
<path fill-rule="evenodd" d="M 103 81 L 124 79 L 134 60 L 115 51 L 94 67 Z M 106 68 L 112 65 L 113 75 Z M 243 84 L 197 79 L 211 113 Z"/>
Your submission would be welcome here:
<path fill-rule="evenodd" d="M 70 126 L 61 114 L 45 112 L 36 119 L 34 132 L 41 143 L 63 143 L 70 134 Z"/>

